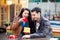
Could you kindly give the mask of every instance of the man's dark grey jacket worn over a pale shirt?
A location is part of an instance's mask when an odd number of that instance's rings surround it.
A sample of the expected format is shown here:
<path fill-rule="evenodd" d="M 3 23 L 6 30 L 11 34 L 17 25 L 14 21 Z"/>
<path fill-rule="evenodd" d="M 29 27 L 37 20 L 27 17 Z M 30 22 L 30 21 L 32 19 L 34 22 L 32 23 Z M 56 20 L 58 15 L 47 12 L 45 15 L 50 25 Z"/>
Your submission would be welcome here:
<path fill-rule="evenodd" d="M 38 32 L 36 32 L 36 22 L 33 21 L 32 22 L 32 26 L 31 27 L 31 33 L 30 37 L 31 38 L 51 38 L 52 37 L 52 29 L 50 26 L 50 22 L 48 19 L 41 17 L 40 18 L 40 26 L 38 28 Z"/>

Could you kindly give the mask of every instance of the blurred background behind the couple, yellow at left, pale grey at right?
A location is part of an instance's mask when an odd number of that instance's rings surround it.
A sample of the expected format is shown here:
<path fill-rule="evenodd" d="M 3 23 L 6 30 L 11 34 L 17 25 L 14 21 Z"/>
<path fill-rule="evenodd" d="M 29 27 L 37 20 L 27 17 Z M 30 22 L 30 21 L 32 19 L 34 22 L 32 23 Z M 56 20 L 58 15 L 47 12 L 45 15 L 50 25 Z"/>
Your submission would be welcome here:
<path fill-rule="evenodd" d="M 53 35 L 60 37 L 60 0 L 0 0 L 0 28 L 12 24 L 13 18 L 19 15 L 21 8 L 31 10 L 34 7 L 41 8 L 41 15 L 51 22 Z"/>

